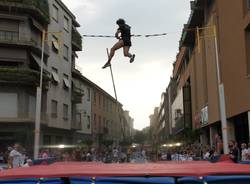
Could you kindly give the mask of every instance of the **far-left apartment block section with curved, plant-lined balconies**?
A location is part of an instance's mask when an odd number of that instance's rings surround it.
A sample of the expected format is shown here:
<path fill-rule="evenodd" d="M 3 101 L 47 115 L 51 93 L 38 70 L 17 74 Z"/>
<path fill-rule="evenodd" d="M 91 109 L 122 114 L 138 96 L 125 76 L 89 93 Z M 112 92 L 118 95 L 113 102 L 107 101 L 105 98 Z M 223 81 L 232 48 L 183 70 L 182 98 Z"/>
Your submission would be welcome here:
<path fill-rule="evenodd" d="M 15 141 L 31 148 L 36 86 L 40 79 L 42 30 L 49 24 L 47 1 L 0 1 L 0 147 Z M 49 87 L 49 47 L 45 43 L 43 102 Z M 41 127 L 48 125 L 43 103 Z"/>

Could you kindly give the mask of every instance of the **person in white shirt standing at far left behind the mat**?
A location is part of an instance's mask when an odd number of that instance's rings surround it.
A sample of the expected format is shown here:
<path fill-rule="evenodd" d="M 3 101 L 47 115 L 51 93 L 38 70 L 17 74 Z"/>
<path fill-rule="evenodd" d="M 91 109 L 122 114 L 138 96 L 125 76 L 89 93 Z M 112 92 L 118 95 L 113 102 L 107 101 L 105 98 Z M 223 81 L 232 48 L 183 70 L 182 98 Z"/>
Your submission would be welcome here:
<path fill-rule="evenodd" d="M 14 144 L 14 149 L 9 154 L 11 168 L 21 167 L 22 154 L 19 151 L 20 151 L 20 145 L 17 143 Z"/>

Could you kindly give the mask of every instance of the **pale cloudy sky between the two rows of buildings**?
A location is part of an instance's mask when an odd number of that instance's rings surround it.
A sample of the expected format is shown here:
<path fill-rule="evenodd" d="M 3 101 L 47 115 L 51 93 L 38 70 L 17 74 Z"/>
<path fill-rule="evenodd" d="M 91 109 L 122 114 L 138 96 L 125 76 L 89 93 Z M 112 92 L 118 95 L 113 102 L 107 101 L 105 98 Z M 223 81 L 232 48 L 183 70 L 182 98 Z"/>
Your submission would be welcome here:
<path fill-rule="evenodd" d="M 172 75 L 183 24 L 190 14 L 189 0 L 62 0 L 76 16 L 83 34 L 114 35 L 116 20 L 123 18 L 132 34 L 168 33 L 161 37 L 132 38 L 134 63 L 118 50 L 112 60 L 118 101 L 130 111 L 134 127 L 149 125 L 149 116 L 160 105 Z M 83 38 L 83 51 L 77 65 L 82 74 L 114 97 L 106 48 L 115 38 Z"/>

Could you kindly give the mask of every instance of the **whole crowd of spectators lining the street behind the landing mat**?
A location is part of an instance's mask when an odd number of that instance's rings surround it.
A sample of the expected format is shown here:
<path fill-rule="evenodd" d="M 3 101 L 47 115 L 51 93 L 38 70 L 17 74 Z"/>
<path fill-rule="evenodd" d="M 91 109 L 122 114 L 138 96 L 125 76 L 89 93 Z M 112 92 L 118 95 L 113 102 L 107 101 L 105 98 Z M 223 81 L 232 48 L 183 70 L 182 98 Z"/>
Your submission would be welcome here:
<path fill-rule="evenodd" d="M 218 139 L 219 140 L 219 139 Z M 230 141 L 229 158 L 234 162 L 250 161 L 250 143 Z M 151 161 L 193 161 L 214 160 L 223 154 L 222 141 L 217 141 L 215 146 L 202 146 L 199 143 L 181 145 L 176 147 L 162 147 L 157 152 L 149 151 L 144 147 L 121 148 L 108 147 L 103 149 L 91 148 L 50 148 L 42 149 L 38 160 L 53 158 L 54 161 L 79 161 L 79 162 L 151 162 Z M 32 156 L 18 143 L 8 147 L 5 152 L 0 152 L 0 163 L 6 164 L 7 168 L 29 167 L 34 164 Z"/>

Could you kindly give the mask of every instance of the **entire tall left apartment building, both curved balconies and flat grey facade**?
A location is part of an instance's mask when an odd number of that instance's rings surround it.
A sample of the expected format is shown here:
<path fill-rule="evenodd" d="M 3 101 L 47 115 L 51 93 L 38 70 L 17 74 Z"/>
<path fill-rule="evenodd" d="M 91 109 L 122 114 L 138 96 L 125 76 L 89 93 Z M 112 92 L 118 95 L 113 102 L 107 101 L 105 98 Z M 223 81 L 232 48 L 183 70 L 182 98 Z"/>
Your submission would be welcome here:
<path fill-rule="evenodd" d="M 0 1 L 0 144 L 32 151 L 42 31 L 46 31 L 41 145 L 72 144 L 72 60 L 80 25 L 60 0 Z"/>

